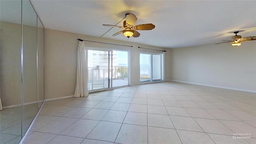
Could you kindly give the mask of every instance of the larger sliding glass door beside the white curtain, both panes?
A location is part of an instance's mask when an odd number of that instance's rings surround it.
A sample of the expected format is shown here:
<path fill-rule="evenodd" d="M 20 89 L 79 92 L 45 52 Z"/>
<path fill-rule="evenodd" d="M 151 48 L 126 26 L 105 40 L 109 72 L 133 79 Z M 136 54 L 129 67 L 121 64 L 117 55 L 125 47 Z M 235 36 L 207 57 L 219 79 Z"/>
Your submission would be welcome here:
<path fill-rule="evenodd" d="M 88 50 L 88 90 L 128 86 L 128 52 Z"/>

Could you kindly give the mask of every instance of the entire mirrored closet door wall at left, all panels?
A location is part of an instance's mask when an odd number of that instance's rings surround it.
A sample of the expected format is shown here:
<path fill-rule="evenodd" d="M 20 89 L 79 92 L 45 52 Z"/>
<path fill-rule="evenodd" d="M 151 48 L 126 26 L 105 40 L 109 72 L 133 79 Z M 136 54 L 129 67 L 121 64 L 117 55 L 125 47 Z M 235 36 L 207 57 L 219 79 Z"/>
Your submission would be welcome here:
<path fill-rule="evenodd" d="M 0 0 L 0 144 L 18 144 L 44 101 L 44 26 L 29 0 Z"/>

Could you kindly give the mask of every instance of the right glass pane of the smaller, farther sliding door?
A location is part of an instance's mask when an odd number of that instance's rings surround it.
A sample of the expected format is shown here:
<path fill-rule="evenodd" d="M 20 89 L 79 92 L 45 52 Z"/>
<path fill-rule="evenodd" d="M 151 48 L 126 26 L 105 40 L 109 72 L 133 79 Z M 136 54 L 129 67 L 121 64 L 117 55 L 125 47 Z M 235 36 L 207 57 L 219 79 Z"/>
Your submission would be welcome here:
<path fill-rule="evenodd" d="M 162 58 L 160 54 L 152 54 L 152 81 L 159 80 L 162 80 Z"/>

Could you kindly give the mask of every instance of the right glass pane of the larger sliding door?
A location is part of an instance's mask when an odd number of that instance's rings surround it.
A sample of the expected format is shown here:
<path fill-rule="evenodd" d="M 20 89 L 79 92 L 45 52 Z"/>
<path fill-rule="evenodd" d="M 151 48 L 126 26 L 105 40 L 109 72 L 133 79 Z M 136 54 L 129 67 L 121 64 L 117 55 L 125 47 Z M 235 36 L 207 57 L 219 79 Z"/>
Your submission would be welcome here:
<path fill-rule="evenodd" d="M 112 87 L 128 86 L 128 52 L 112 51 Z"/>

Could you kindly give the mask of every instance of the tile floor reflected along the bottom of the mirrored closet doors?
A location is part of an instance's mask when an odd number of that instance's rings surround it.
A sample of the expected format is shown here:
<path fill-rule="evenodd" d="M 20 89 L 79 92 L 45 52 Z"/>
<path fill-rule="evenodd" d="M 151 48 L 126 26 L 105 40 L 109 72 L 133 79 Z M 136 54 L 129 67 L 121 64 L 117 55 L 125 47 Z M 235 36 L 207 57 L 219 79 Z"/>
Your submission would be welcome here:
<path fill-rule="evenodd" d="M 28 130 L 42 102 L 0 111 L 0 144 L 18 144 Z"/>

